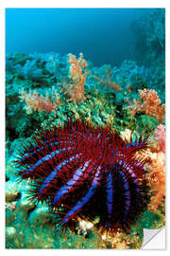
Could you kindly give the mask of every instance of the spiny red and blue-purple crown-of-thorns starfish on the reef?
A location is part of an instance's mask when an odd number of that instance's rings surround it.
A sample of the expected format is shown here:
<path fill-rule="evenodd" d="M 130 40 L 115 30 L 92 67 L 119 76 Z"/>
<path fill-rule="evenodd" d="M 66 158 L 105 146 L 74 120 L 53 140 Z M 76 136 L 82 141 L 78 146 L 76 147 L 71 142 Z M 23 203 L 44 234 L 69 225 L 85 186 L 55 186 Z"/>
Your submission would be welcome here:
<path fill-rule="evenodd" d="M 134 154 L 147 144 L 130 142 L 108 128 L 83 121 L 42 130 L 18 155 L 20 179 L 32 180 L 30 199 L 44 201 L 58 216 L 56 229 L 76 217 L 104 229 L 128 229 L 144 210 L 144 159 Z"/>

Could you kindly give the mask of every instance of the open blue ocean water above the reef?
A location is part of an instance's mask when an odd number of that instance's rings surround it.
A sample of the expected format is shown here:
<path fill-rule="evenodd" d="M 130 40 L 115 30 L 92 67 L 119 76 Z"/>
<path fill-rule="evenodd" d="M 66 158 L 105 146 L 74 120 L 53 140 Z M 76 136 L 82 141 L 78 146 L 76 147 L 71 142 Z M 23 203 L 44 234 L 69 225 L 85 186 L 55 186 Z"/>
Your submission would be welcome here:
<path fill-rule="evenodd" d="M 83 52 L 95 65 L 119 65 L 135 58 L 131 24 L 153 10 L 6 9 L 6 52 Z"/>

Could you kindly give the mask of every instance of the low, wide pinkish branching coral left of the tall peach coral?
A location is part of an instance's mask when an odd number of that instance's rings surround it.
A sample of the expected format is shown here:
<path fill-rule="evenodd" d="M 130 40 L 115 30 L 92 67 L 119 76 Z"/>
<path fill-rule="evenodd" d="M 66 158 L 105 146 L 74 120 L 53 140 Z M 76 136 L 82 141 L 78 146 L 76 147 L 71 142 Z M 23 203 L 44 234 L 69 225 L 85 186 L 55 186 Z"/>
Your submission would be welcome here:
<path fill-rule="evenodd" d="M 54 88 L 53 88 L 54 89 Z M 20 93 L 21 101 L 26 101 L 26 113 L 32 113 L 32 110 L 42 112 L 43 110 L 47 113 L 50 113 L 52 110 L 56 110 L 59 105 L 59 94 L 57 91 L 54 90 L 53 101 L 50 101 L 49 94 L 46 92 L 45 97 L 39 95 L 39 93 L 35 91 L 29 91 L 26 93 L 25 89 L 23 88 Z"/>

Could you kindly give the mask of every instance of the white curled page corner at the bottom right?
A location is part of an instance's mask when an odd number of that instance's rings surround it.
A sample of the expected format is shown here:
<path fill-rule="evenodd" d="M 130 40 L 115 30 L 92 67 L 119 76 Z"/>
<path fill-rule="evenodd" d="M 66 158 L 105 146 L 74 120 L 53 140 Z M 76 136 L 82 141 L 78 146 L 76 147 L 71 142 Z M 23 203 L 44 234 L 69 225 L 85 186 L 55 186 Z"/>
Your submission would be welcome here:
<path fill-rule="evenodd" d="M 142 249 L 165 249 L 165 228 L 144 229 Z"/>

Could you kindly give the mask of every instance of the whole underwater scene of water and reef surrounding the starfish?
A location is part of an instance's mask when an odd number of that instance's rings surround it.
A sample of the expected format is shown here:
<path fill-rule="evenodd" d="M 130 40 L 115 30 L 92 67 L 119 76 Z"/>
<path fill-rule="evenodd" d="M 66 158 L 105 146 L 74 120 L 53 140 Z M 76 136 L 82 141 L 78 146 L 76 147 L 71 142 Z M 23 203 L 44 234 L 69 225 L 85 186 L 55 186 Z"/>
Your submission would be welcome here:
<path fill-rule="evenodd" d="M 130 232 L 101 235 L 96 218 L 59 235 L 48 207 L 27 199 L 14 160 L 68 117 L 148 137 L 150 201 Z M 6 247 L 140 248 L 143 229 L 165 223 L 164 184 L 165 9 L 6 9 Z"/>

